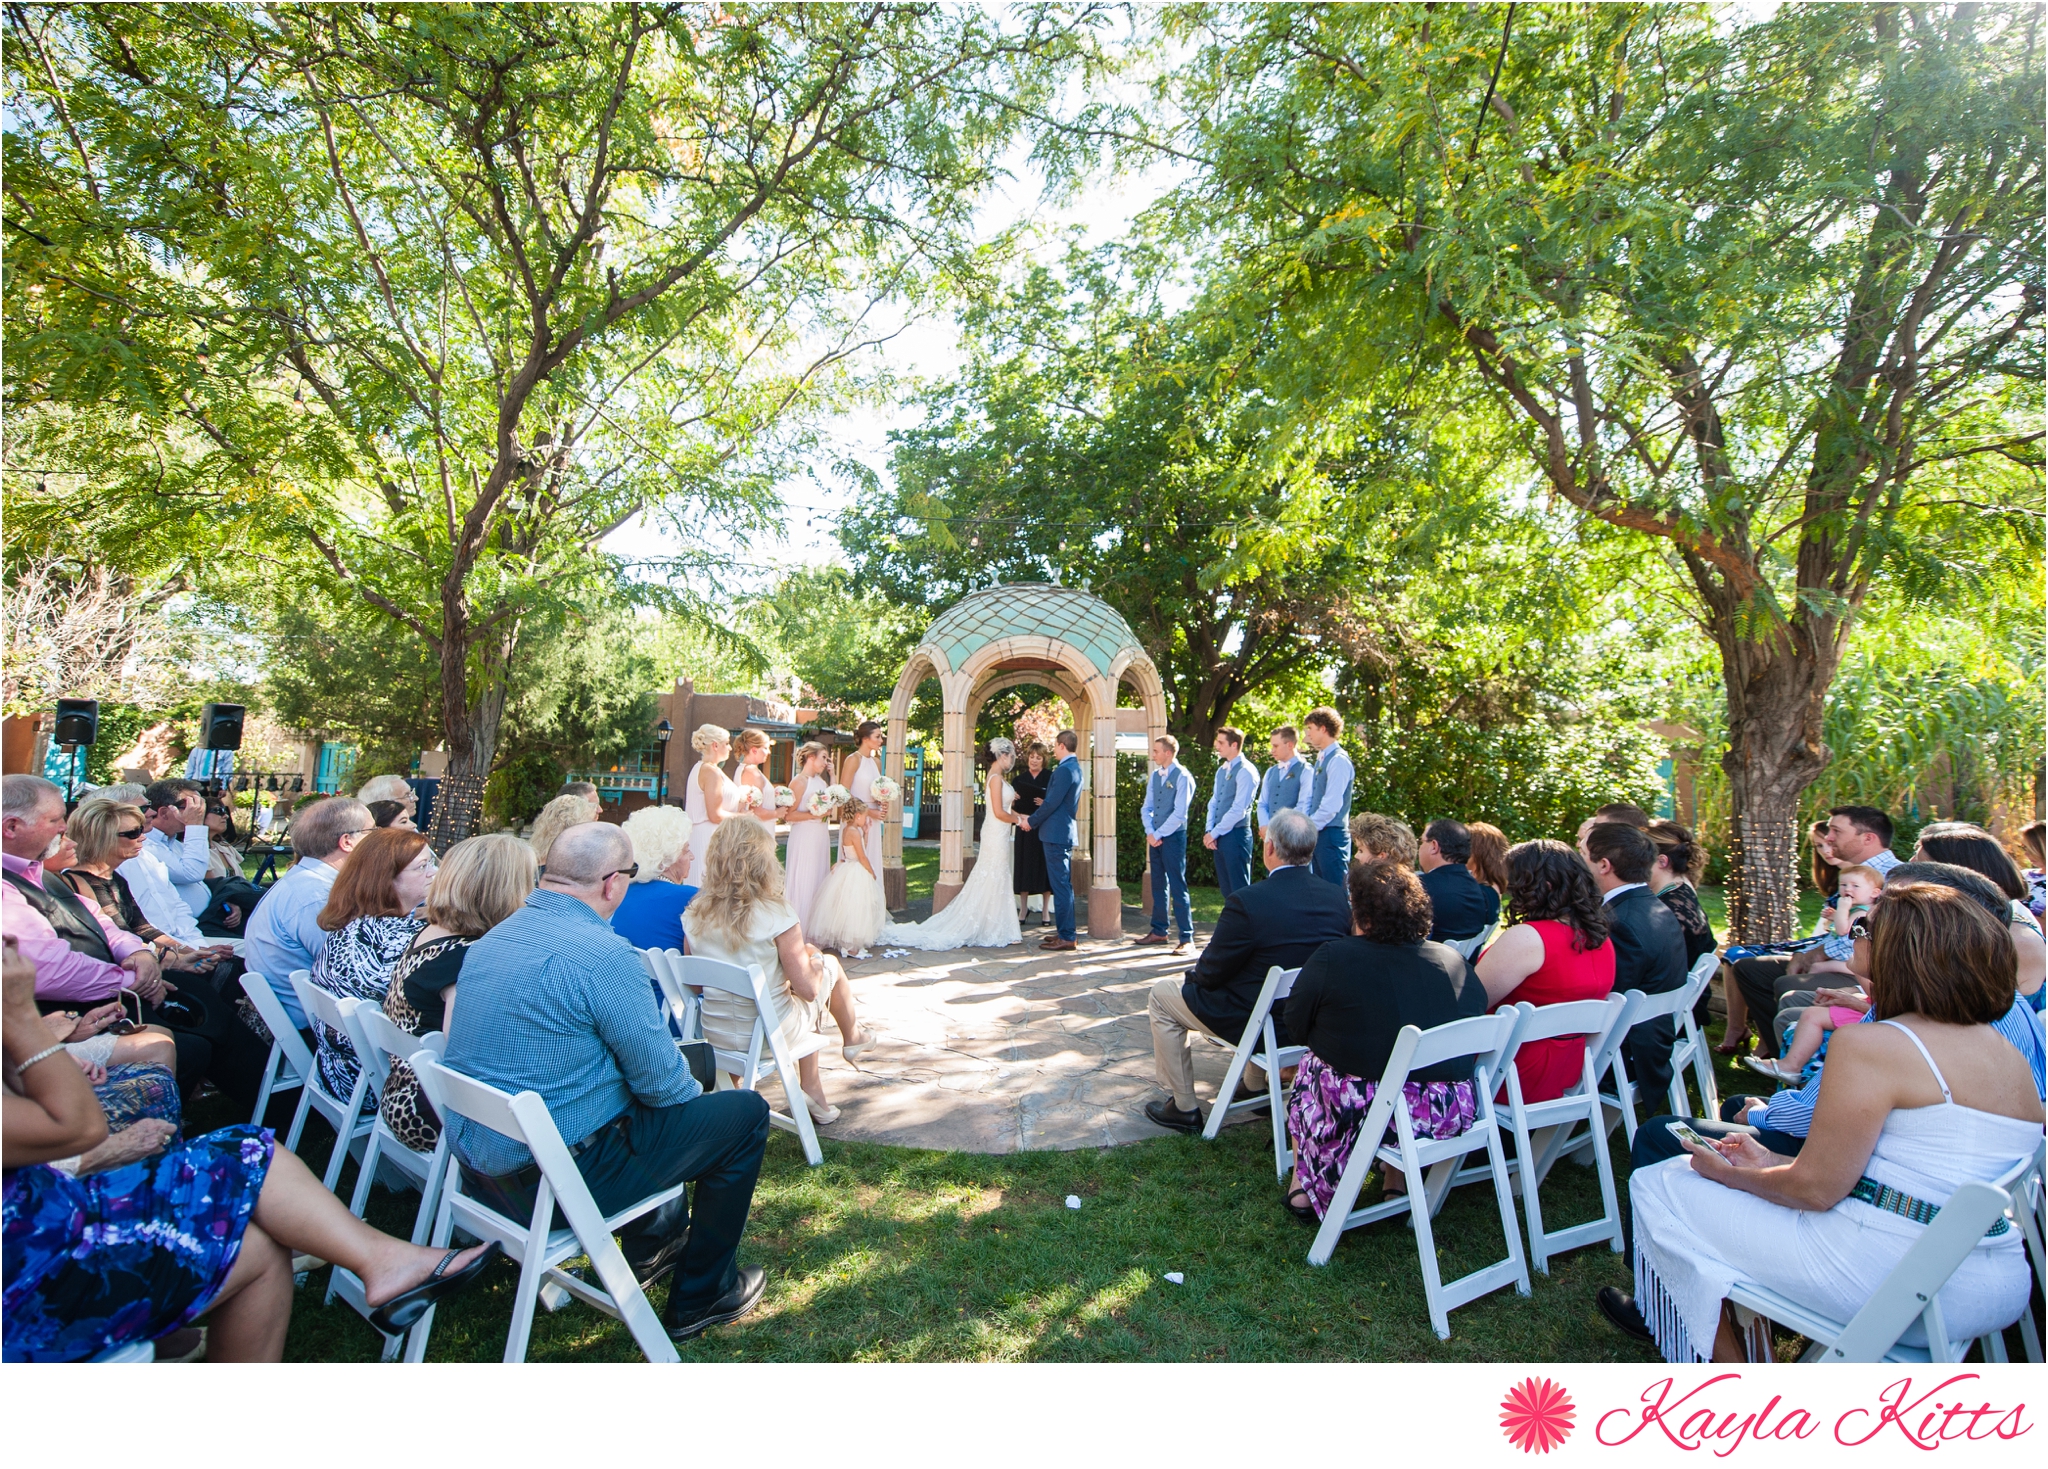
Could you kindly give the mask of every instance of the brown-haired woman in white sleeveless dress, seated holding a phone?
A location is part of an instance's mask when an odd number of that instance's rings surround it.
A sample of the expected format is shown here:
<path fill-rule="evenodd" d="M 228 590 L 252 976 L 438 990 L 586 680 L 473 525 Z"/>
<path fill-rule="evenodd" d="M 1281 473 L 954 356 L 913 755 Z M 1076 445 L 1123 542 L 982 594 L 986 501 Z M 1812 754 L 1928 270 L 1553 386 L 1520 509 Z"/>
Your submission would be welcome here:
<path fill-rule="evenodd" d="M 1835 1035 L 1808 1145 L 1784 1158 L 1737 1135 L 1638 1168 L 1636 1295 L 1604 1287 L 1608 1319 L 1671 1362 L 1739 1362 L 1737 1281 L 1853 1317 L 1925 1235 L 1927 1211 L 2040 1147 L 2040 1092 L 1993 1031 L 2015 967 L 2011 934 L 1970 897 L 1886 879 L 1870 920 L 1876 1022 Z M 2021 1231 L 1987 1233 L 1939 1291 L 1948 1332 L 2009 1326 L 2030 1287 Z M 1917 1317 L 1901 1342 L 1927 1344 Z"/>

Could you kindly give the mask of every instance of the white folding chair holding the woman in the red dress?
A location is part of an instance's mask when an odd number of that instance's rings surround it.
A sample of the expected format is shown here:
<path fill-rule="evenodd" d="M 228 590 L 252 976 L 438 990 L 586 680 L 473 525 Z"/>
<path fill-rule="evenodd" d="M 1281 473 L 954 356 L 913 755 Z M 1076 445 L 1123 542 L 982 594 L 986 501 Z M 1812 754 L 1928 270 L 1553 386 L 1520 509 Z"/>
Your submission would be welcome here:
<path fill-rule="evenodd" d="M 1634 992 L 1630 992 L 1634 994 Z M 1606 1240 L 1616 1254 L 1622 1252 L 1622 1211 L 1614 1192 L 1614 1160 L 1608 1158 L 1608 1127 L 1599 1096 L 1599 1072 L 1595 1059 L 1612 1043 L 1624 1014 L 1630 1008 L 1628 996 L 1610 994 L 1606 1000 L 1573 1000 L 1569 1004 L 1532 1006 L 1518 1004 L 1522 1022 L 1516 1026 L 1507 1053 L 1501 1059 L 1501 1074 L 1507 1080 L 1507 1123 L 1516 1133 L 1513 1172 L 1522 1180 L 1522 1209 L 1530 1225 L 1530 1260 L 1538 1270 L 1550 1274 L 1550 1256 L 1565 1250 Z M 1522 1074 L 1513 1067 L 1516 1053 L 1530 1041 L 1552 1041 L 1579 1037 L 1583 1041 L 1581 1078 L 1563 1096 L 1548 1102 L 1526 1102 L 1522 1098 Z M 1585 1133 L 1577 1131 L 1585 1123 Z M 1542 1133 L 1540 1143 L 1530 1135 Z M 1550 1172 L 1552 1160 L 1577 1151 L 1591 1143 L 1593 1166 L 1599 1170 L 1599 1203 L 1604 1213 L 1581 1225 L 1565 1229 L 1544 1229 L 1542 1225 L 1542 1180 Z"/>

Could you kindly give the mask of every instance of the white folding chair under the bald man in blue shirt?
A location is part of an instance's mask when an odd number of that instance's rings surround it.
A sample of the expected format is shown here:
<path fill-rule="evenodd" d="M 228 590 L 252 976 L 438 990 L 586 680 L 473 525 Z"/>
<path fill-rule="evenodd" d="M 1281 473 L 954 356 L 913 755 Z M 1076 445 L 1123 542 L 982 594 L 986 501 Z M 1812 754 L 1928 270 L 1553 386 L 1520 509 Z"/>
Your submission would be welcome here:
<path fill-rule="evenodd" d="M 541 1299 L 543 1281 L 573 1295 L 606 1315 L 625 1321 L 633 1340 L 649 1362 L 676 1362 L 676 1344 L 668 1340 L 659 1317 L 647 1303 L 647 1293 L 633 1278 L 633 1266 L 618 1252 L 612 1233 L 623 1225 L 653 1213 L 662 1205 L 678 1199 L 688 1184 L 664 1188 L 639 1203 L 604 1217 L 590 1197 L 584 1174 L 575 1168 L 575 1158 L 561 1141 L 561 1131 L 547 1110 L 547 1102 L 537 1092 L 508 1096 L 496 1086 L 485 1086 L 461 1072 L 451 1072 L 432 1051 L 416 1051 L 412 1057 L 420 1090 L 440 1115 L 442 1131 L 457 1117 L 487 1127 L 514 1143 L 524 1145 L 541 1166 L 541 1182 L 535 1186 L 532 1217 L 526 1221 L 508 1219 L 494 1207 L 463 1192 L 461 1162 L 451 1151 L 444 1162 L 440 1184 L 440 1207 L 434 1213 L 434 1248 L 444 1250 L 457 1229 L 477 1240 L 498 1240 L 506 1254 L 518 1260 L 518 1291 L 512 1297 L 512 1328 L 506 1332 L 504 1360 L 526 1360 L 526 1340 L 532 1336 L 532 1311 Z M 567 1229 L 551 1229 L 555 1209 L 569 1221 Z M 561 1268 L 565 1260 L 590 1256 L 600 1285 L 590 1285 L 580 1274 Z M 602 1287 L 602 1289 L 600 1289 Z M 418 1362 L 426 1356 L 426 1338 L 434 1330 L 434 1309 L 412 1328 L 406 1342 L 406 1360 Z"/>

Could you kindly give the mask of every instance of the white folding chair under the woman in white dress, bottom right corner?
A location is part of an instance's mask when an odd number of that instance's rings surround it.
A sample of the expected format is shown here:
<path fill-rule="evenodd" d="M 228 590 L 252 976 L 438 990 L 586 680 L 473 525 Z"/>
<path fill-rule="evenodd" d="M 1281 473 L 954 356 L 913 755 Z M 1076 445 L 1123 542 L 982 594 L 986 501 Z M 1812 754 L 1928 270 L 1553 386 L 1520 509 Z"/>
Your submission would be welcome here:
<path fill-rule="evenodd" d="M 1769 1360 L 1769 1332 L 1757 1326 L 1757 1317 L 1767 1317 L 1812 1342 L 1800 1356 L 1802 1362 L 1960 1362 L 1970 1350 L 1970 1342 L 1950 1338 L 1942 1317 L 1942 1287 L 1999 1219 L 2021 1229 L 2030 1248 L 2036 1244 L 2040 1223 L 2036 1217 L 2034 1229 L 2028 1229 L 2028 1215 L 2038 1209 L 2044 1147 L 2048 1145 L 2036 1143 L 2034 1156 L 2007 1170 L 1997 1182 L 1972 1182 L 1952 1192 L 1905 1258 L 1872 1291 L 1864 1309 L 1847 1321 L 1835 1321 L 1751 1281 L 1737 1281 L 1729 1291 L 1729 1301 L 1735 1303 L 1735 1319 L 1751 1360 Z M 2036 1278 L 2040 1278 L 2038 1250 L 2034 1250 L 2034 1260 Z M 1913 1328 L 1915 1319 L 1927 1334 L 1925 1346 L 1907 1346 L 1898 1340 Z M 2028 1360 L 2042 1360 L 2040 1336 L 2032 1330 L 2032 1305 L 2019 1309 L 2019 1321 L 2028 1342 Z M 1987 1362 L 2005 1360 L 2003 1330 L 1976 1340 Z"/>

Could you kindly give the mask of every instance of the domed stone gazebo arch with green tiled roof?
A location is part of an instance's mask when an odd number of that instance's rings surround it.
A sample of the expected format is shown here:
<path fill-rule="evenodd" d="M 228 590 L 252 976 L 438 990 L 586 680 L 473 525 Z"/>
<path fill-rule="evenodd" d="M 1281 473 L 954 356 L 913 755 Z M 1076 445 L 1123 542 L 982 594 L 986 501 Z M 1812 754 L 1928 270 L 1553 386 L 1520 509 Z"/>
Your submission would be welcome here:
<path fill-rule="evenodd" d="M 944 705 L 944 779 L 940 785 L 938 883 L 932 912 L 952 901 L 965 881 L 965 834 L 975 809 L 975 721 L 989 695 L 1034 682 L 1073 709 L 1087 762 L 1073 854 L 1075 897 L 1087 893 L 1087 932 L 1116 938 L 1124 897 L 1116 885 L 1116 688 L 1130 684 L 1145 705 L 1153 738 L 1165 733 L 1165 688 L 1130 625 L 1100 596 L 1069 586 L 1010 582 L 971 592 L 926 631 L 889 699 L 889 774 L 903 785 L 903 738 L 918 684 L 938 678 Z M 883 834 L 883 891 L 905 901 L 903 805 L 891 805 Z"/>

